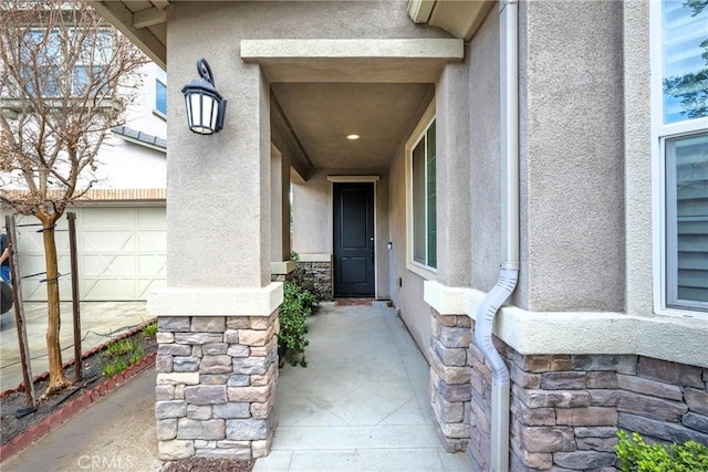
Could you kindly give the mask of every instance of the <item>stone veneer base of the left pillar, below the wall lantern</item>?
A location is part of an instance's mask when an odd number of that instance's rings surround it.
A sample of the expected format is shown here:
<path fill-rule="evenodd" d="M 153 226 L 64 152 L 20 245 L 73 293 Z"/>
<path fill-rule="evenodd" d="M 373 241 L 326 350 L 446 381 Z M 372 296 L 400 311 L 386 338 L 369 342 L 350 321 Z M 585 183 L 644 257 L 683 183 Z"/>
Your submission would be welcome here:
<path fill-rule="evenodd" d="M 159 458 L 267 455 L 275 430 L 278 311 L 157 322 Z"/>

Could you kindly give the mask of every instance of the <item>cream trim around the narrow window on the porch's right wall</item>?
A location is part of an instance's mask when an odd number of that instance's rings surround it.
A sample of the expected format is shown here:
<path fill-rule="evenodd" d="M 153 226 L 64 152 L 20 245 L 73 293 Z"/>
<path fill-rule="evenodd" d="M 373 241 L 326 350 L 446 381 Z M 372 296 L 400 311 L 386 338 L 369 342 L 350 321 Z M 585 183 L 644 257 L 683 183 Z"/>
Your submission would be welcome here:
<path fill-rule="evenodd" d="M 430 127 L 435 119 L 435 101 L 430 103 L 423 114 L 410 137 L 406 141 L 405 161 L 406 161 L 406 269 L 420 275 L 423 279 L 435 281 L 438 277 L 438 271 L 429 265 L 421 264 L 414 260 L 413 245 L 413 149 L 420 140 L 421 135 Z"/>

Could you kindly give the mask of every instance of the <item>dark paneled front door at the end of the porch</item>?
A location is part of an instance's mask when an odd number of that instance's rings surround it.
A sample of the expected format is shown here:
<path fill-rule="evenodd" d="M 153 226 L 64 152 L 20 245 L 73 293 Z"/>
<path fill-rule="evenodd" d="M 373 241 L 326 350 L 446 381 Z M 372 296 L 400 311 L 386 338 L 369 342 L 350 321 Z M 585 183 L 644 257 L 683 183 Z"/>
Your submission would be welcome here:
<path fill-rule="evenodd" d="M 334 183 L 334 295 L 374 296 L 374 183 Z"/>

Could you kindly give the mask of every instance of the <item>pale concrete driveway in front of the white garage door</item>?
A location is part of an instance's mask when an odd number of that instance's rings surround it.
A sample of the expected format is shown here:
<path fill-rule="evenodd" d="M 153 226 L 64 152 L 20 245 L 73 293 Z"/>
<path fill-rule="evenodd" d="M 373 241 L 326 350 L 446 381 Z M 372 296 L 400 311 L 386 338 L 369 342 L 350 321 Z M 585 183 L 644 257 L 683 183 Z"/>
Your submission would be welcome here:
<path fill-rule="evenodd" d="M 81 312 L 81 352 L 85 353 L 131 327 L 148 321 L 145 302 L 83 302 Z M 71 302 L 61 303 L 60 339 L 64 361 L 74 357 L 74 328 Z M 32 376 L 49 370 L 46 359 L 46 303 L 24 303 Z M 15 389 L 22 382 L 20 348 L 14 308 L 0 316 L 0 391 Z M 42 394 L 41 391 L 38 392 Z"/>

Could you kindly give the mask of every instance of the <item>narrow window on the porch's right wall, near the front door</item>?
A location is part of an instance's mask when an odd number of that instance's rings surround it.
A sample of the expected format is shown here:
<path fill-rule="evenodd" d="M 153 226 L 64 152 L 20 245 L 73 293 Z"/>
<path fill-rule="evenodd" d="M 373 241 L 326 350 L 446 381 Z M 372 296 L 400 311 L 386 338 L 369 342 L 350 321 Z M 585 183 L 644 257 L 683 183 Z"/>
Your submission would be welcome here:
<path fill-rule="evenodd" d="M 429 276 L 437 268 L 435 117 L 426 113 L 408 149 L 409 269 Z M 423 269 L 421 272 L 418 269 Z"/>

